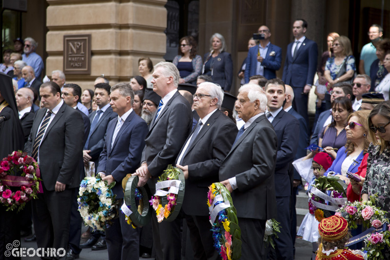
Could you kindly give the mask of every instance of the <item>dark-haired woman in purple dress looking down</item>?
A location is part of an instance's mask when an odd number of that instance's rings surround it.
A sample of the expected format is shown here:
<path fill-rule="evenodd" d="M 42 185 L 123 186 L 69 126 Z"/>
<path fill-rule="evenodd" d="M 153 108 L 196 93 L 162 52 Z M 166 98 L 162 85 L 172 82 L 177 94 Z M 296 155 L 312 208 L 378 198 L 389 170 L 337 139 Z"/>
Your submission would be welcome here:
<path fill-rule="evenodd" d="M 348 116 L 353 112 L 351 100 L 347 97 L 340 97 L 332 102 L 333 121 L 322 129 L 318 145 L 324 147 L 325 152 L 336 158 L 336 152 L 343 147 L 347 141 L 345 126 Z"/>

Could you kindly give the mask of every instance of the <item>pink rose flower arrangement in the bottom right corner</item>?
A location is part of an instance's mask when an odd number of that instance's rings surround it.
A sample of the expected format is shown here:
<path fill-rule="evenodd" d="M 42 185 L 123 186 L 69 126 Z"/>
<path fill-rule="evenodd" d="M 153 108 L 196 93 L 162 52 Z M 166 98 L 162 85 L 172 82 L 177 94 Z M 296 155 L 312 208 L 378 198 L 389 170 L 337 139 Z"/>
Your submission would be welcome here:
<path fill-rule="evenodd" d="M 337 210 L 336 215 L 348 220 L 350 229 L 357 228 L 357 222 L 362 222 L 368 230 L 360 234 L 359 240 L 364 239 L 366 246 L 362 251 L 367 252 L 367 258 L 373 260 L 385 259 L 382 250 L 390 247 L 389 219 L 386 218 L 386 211 L 375 205 L 378 194 L 370 196 L 370 200 L 360 202 L 348 201 L 343 207 Z M 348 244 L 352 244 L 354 238 Z"/>

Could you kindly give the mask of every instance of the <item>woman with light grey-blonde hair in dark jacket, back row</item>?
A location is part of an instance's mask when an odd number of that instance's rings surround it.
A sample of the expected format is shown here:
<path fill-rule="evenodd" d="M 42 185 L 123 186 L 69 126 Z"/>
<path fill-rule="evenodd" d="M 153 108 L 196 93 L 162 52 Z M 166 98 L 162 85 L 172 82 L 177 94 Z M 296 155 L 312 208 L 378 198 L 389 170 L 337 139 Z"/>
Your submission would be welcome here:
<path fill-rule="evenodd" d="M 233 82 L 232 55 L 226 52 L 225 38 L 215 33 L 210 38 L 210 52 L 204 55 L 202 74 L 212 77 L 225 92 L 229 92 Z"/>

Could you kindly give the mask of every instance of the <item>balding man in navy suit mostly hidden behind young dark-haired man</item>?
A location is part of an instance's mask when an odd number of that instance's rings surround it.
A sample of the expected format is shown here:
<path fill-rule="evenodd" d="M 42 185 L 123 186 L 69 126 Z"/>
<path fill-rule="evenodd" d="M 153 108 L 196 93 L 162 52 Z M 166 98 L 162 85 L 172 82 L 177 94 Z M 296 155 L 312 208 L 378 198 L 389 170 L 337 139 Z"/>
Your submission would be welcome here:
<path fill-rule="evenodd" d="M 299 142 L 298 142 L 298 149 L 295 154 L 294 160 L 297 160 L 299 158 L 306 156 L 306 147 L 309 146 L 309 136 L 308 136 L 308 126 L 306 124 L 306 120 L 298 114 L 293 108 L 292 108 L 292 100 L 294 100 L 294 91 L 292 90 L 292 87 L 289 85 L 286 86 L 286 104 L 283 106 L 284 111 L 287 113 L 290 113 L 293 117 L 295 117 L 299 121 Z M 301 176 L 299 173 L 292 167 L 290 169 L 290 177 L 292 178 L 292 197 L 291 197 L 291 237 L 292 237 L 292 244 L 293 244 L 293 250 L 295 252 L 295 237 L 296 237 L 296 210 L 295 210 L 295 204 L 296 204 L 296 193 L 298 185 L 301 184 Z M 295 253 L 294 253 L 295 255 Z"/>

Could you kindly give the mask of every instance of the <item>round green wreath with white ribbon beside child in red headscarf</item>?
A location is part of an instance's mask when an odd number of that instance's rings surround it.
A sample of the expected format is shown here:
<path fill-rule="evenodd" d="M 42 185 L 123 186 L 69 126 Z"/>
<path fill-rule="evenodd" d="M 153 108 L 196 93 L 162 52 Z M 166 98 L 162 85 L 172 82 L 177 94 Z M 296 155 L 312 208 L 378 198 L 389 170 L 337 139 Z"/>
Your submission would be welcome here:
<path fill-rule="evenodd" d="M 319 177 L 308 193 L 309 212 L 318 222 L 331 217 L 331 211 L 336 211 L 346 203 L 346 188 L 347 185 L 337 177 Z M 331 205 L 326 204 L 326 201 L 331 202 Z"/>

